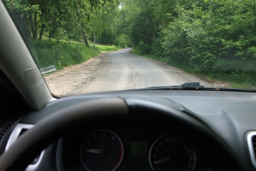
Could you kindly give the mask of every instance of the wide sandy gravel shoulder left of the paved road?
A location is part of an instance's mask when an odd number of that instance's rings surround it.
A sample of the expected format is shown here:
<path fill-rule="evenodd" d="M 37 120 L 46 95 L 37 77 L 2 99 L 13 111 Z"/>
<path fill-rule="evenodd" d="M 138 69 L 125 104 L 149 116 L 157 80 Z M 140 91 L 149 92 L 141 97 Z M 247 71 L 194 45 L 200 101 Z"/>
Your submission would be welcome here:
<path fill-rule="evenodd" d="M 57 97 L 87 93 L 86 88 L 91 83 L 100 80 L 108 72 L 110 58 L 106 52 L 91 58 L 81 64 L 64 67 L 44 76 L 50 92 Z"/>

